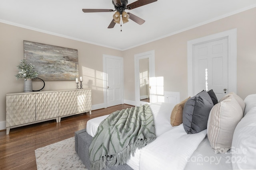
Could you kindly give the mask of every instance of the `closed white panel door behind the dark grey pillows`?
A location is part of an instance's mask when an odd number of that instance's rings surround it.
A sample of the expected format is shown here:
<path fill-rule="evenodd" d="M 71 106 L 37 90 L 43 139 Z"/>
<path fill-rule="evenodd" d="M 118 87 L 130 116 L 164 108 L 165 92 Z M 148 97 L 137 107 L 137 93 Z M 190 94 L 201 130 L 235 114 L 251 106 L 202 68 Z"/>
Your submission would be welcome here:
<path fill-rule="evenodd" d="M 194 45 L 194 94 L 211 89 L 218 100 L 228 92 L 228 38 Z"/>

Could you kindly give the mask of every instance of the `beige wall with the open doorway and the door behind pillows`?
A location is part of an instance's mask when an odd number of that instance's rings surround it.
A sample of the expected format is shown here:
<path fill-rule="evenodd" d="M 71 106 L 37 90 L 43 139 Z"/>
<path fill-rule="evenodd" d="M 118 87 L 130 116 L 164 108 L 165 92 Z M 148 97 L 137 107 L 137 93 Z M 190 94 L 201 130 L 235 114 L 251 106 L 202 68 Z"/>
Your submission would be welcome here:
<path fill-rule="evenodd" d="M 134 55 L 155 50 L 155 76 L 164 77 L 164 91 L 188 96 L 187 41 L 237 28 L 238 95 L 256 93 L 256 8 L 123 51 L 124 96 L 135 100 Z"/>

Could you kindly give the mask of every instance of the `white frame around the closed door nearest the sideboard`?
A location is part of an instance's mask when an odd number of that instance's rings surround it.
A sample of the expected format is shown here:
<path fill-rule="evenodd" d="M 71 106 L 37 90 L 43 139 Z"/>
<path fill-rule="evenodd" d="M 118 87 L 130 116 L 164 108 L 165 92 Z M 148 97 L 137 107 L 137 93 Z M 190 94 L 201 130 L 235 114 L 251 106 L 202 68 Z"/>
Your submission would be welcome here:
<path fill-rule="evenodd" d="M 121 61 L 121 98 L 122 104 L 124 104 L 124 59 L 113 55 L 103 55 L 103 95 L 104 95 L 104 108 L 108 107 L 107 100 L 107 70 L 106 70 L 106 58 L 117 59 Z"/>

